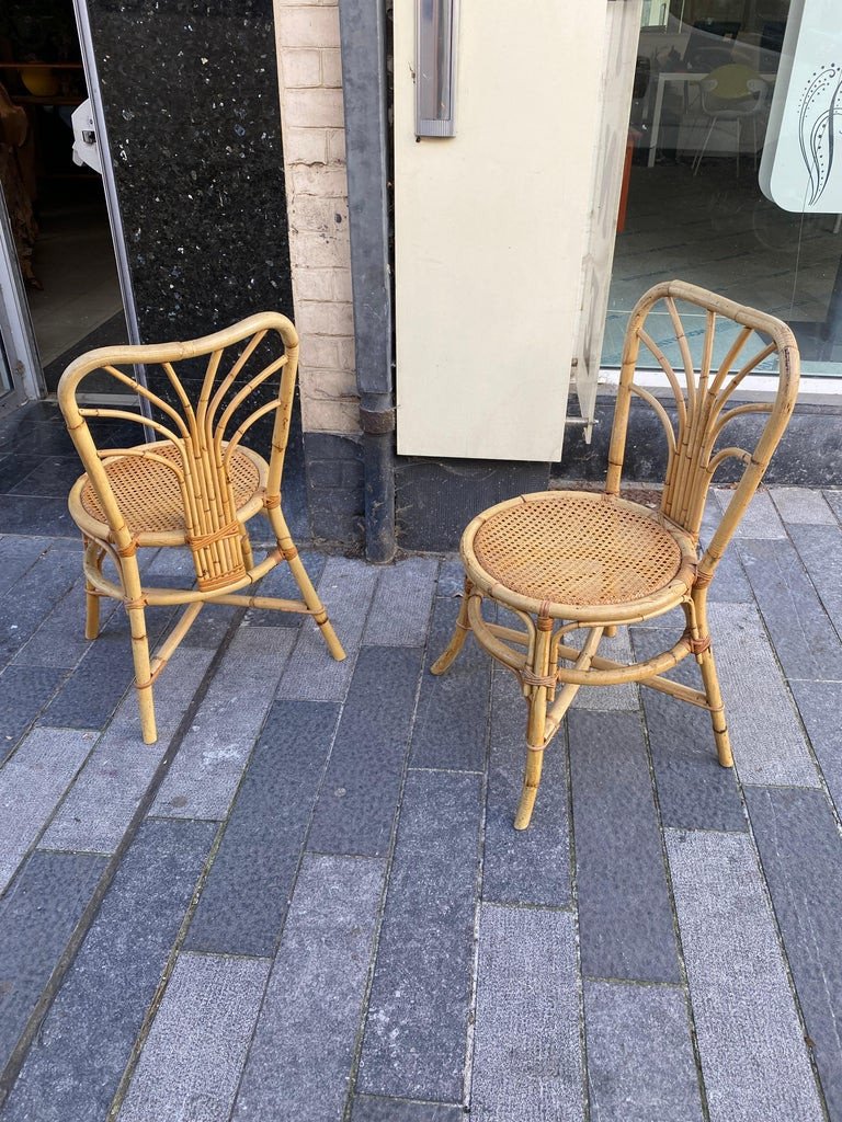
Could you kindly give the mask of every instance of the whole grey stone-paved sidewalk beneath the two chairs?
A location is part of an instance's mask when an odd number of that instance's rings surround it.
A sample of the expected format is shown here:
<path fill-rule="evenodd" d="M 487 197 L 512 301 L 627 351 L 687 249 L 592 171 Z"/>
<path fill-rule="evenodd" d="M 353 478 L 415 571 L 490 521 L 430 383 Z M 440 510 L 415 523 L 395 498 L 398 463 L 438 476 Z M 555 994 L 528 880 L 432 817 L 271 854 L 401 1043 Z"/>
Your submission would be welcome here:
<path fill-rule="evenodd" d="M 760 494 L 714 581 L 735 771 L 705 712 L 583 691 L 515 834 L 514 681 L 470 641 L 427 671 L 455 561 L 305 553 L 341 664 L 205 609 L 145 746 L 31 473 L 0 461 L 2 1122 L 842 1120 L 841 494 Z"/>

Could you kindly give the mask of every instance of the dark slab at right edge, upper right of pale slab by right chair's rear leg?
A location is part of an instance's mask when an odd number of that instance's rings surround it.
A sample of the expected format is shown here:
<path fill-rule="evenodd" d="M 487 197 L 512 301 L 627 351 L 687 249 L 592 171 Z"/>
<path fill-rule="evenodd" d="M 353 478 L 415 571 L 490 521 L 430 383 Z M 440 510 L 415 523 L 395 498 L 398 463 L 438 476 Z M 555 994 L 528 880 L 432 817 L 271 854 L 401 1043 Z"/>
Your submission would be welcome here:
<path fill-rule="evenodd" d="M 740 557 L 787 678 L 842 681 L 842 644 L 790 542 L 740 542 Z"/>

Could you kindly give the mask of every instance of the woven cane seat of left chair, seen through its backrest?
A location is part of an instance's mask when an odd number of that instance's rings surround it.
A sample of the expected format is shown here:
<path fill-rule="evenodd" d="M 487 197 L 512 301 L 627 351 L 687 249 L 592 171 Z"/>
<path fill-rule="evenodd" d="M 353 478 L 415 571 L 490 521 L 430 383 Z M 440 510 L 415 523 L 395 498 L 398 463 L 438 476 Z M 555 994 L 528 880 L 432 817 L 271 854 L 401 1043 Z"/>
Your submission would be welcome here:
<path fill-rule="evenodd" d="M 156 457 L 182 466 L 179 450 L 170 441 L 140 444 L 128 449 L 129 454 L 112 459 L 108 458 L 107 450 L 103 451 L 103 467 L 126 525 L 134 535 L 184 534 L 184 504 L 175 472 L 158 460 L 131 456 L 132 451 L 154 452 Z M 230 472 L 238 513 L 260 490 L 267 470 L 265 461 L 250 449 L 235 449 Z M 86 475 L 77 481 L 74 493 L 81 512 L 98 523 L 100 531 L 107 531 L 104 511 Z"/>

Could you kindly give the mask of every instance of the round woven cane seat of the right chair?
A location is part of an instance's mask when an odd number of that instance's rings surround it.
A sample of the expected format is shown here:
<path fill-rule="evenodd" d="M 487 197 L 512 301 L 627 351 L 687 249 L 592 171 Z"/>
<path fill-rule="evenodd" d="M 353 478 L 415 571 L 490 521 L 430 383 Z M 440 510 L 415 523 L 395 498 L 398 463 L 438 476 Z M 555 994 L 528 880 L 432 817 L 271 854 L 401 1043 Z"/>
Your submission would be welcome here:
<path fill-rule="evenodd" d="M 680 586 L 690 549 L 649 508 L 588 491 L 521 496 L 472 527 L 463 551 L 473 551 L 493 595 L 579 607 L 628 605 Z"/>

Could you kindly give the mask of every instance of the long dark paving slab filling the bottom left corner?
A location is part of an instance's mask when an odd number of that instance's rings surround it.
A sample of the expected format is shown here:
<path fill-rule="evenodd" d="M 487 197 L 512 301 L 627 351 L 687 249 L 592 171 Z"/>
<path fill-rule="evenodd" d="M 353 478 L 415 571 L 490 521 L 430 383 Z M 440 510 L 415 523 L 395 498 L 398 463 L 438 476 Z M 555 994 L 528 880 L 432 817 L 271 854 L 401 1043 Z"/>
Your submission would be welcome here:
<path fill-rule="evenodd" d="M 213 840 L 212 822 L 144 824 L 0 1112 L 102 1122 Z"/>

